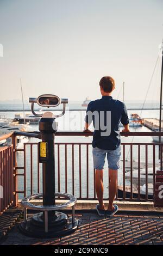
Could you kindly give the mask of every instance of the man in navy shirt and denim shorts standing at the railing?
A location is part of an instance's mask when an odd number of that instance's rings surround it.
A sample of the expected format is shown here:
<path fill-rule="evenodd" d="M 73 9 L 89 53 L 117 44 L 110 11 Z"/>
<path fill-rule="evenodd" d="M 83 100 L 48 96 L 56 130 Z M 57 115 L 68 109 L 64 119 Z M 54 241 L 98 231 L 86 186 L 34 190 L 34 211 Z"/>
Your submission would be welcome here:
<path fill-rule="evenodd" d="M 93 121 L 93 165 L 96 169 L 96 193 L 99 204 L 96 210 L 99 216 L 113 216 L 118 211 L 118 206 L 113 205 L 117 192 L 117 170 L 120 168 L 122 131 L 129 132 L 129 118 L 126 106 L 119 100 L 112 99 L 111 93 L 115 89 L 115 81 L 110 76 L 102 77 L 99 82 L 102 98 L 91 101 L 87 106 L 84 131 L 89 132 L 89 126 Z M 103 204 L 103 168 L 107 155 L 109 167 L 109 205 L 105 211 Z"/>

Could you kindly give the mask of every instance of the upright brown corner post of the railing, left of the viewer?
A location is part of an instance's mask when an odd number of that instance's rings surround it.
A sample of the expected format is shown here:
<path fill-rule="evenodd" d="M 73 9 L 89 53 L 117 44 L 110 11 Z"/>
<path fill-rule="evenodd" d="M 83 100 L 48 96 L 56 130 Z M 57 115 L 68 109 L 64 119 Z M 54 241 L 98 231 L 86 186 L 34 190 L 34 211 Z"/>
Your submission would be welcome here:
<path fill-rule="evenodd" d="M 17 175 L 16 175 L 16 135 L 12 134 L 12 145 L 13 145 L 13 206 L 17 206 Z"/>

